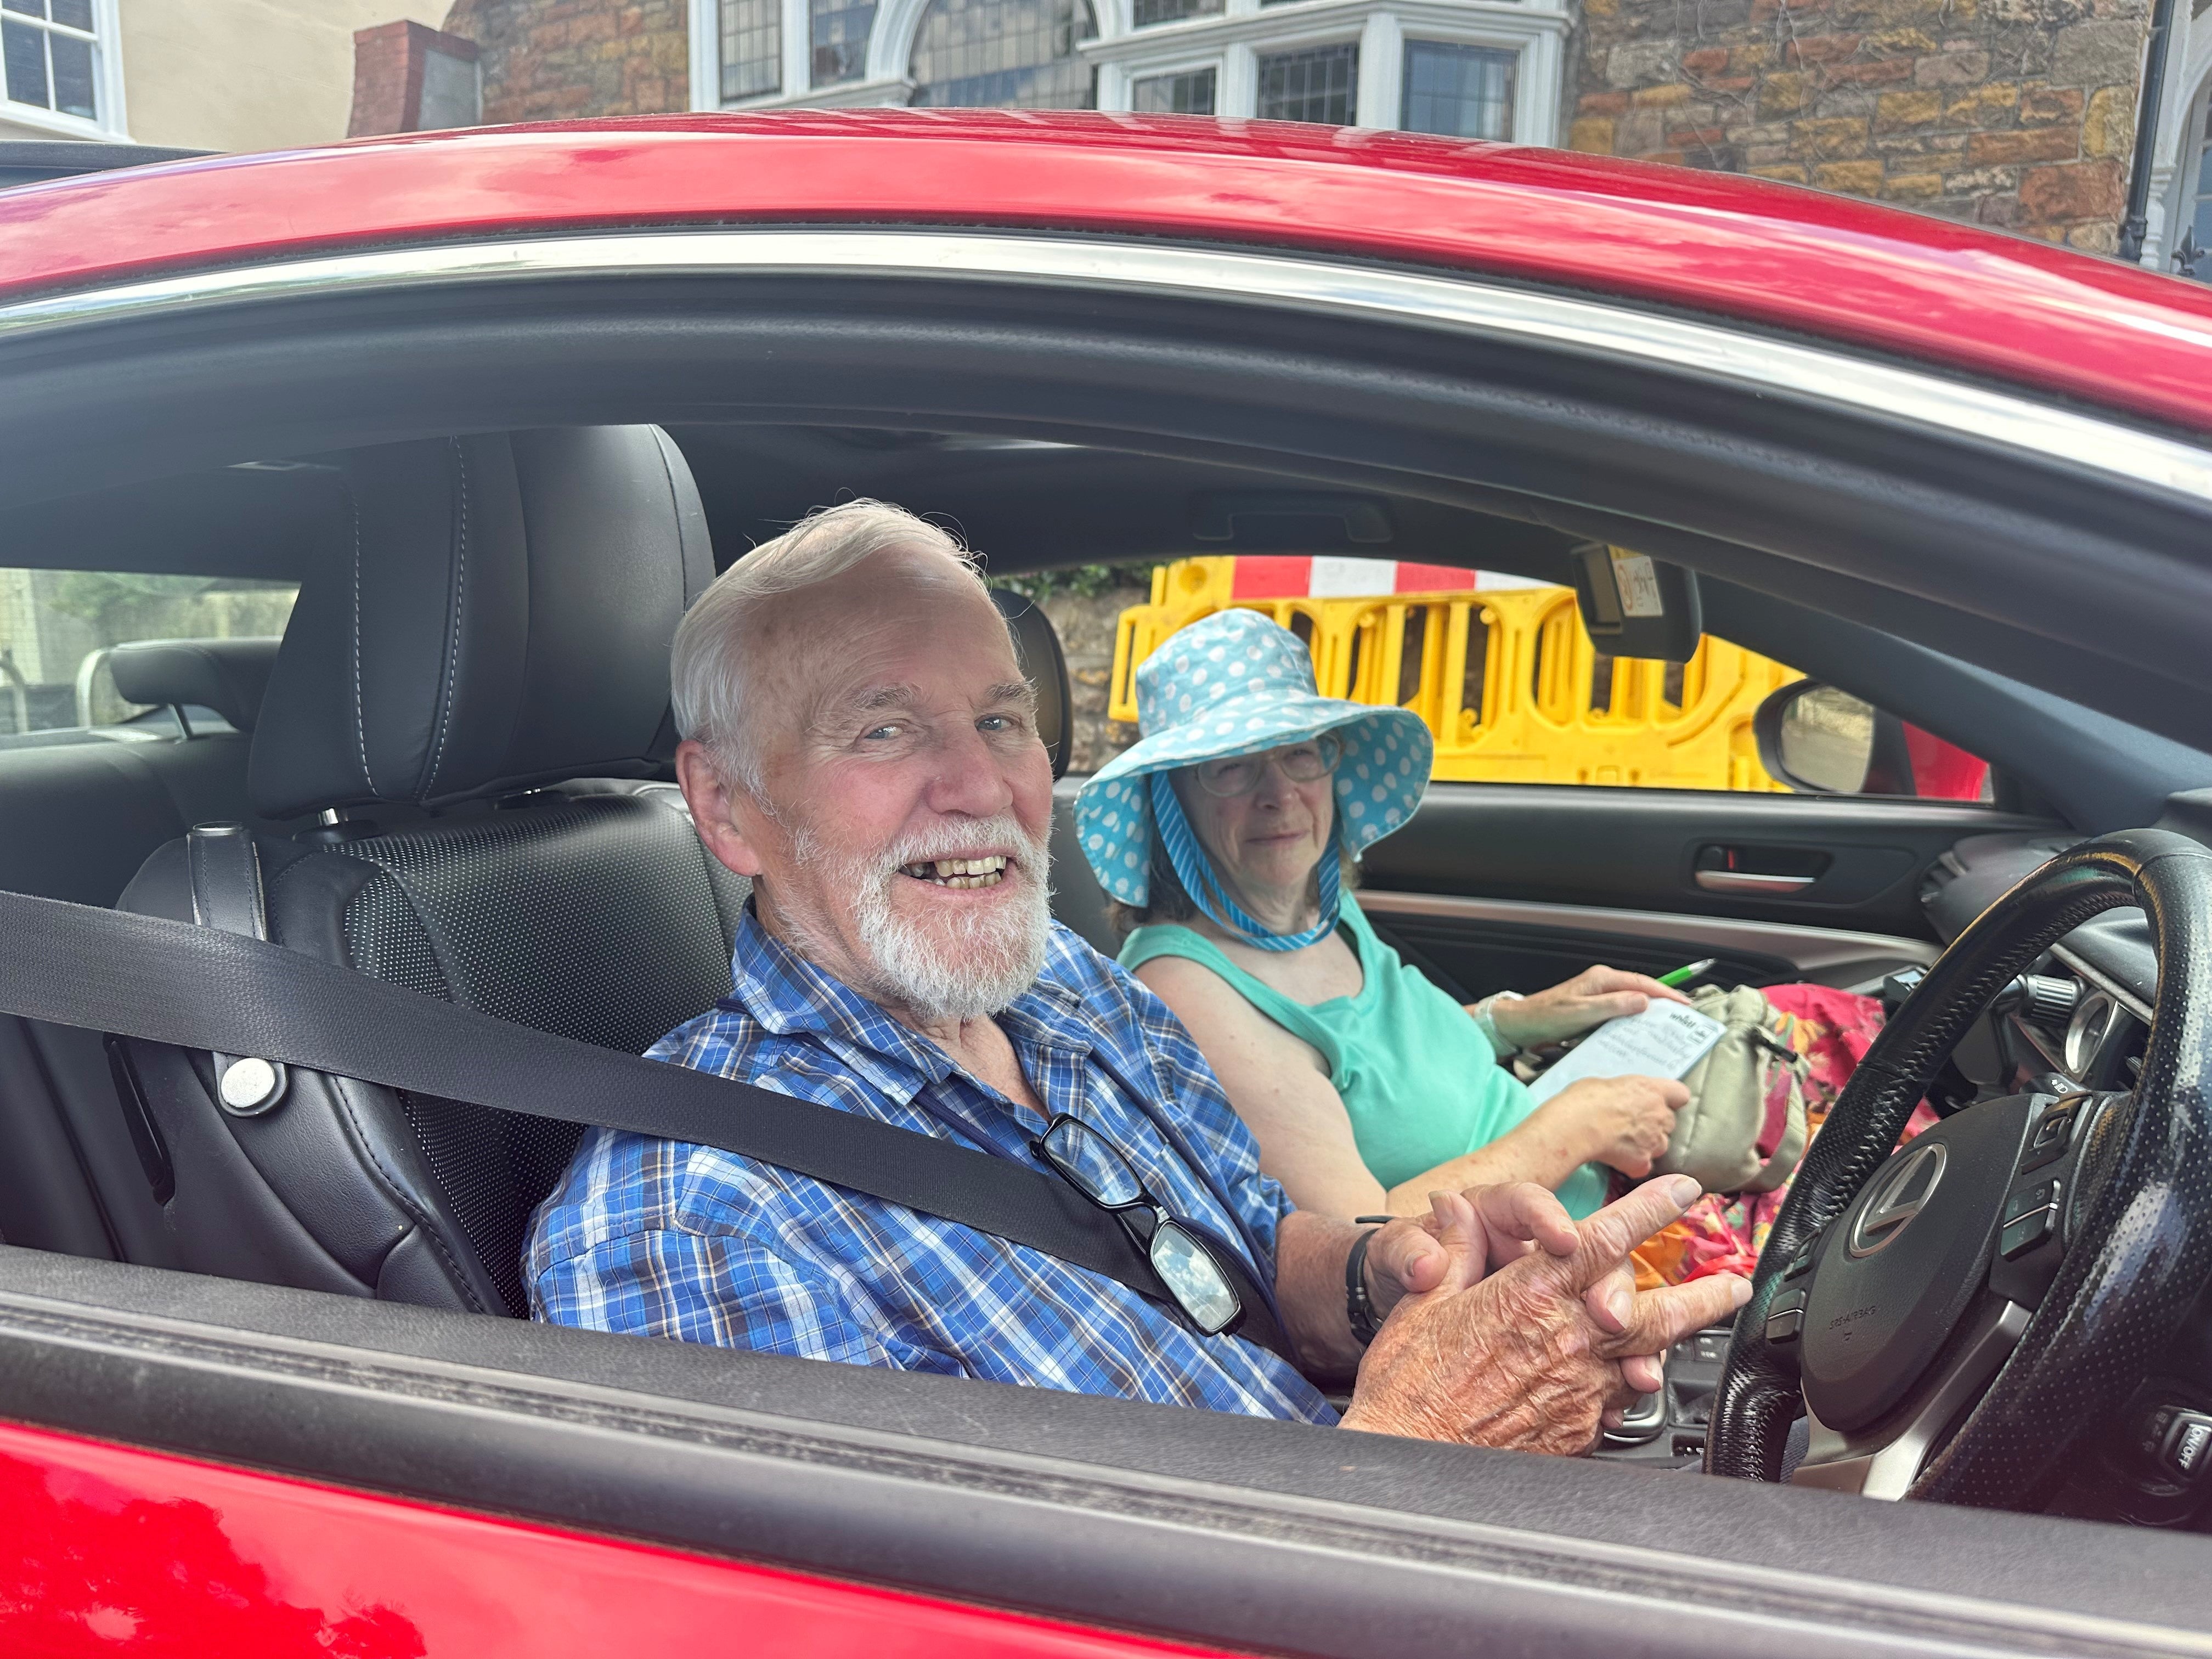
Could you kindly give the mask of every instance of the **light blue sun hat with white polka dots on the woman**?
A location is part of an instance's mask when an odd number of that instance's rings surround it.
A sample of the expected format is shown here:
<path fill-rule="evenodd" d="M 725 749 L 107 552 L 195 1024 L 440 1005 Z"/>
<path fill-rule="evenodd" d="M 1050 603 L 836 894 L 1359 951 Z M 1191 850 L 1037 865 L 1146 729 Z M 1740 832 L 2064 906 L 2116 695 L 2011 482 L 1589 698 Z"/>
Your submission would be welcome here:
<path fill-rule="evenodd" d="M 1345 745 L 1336 768 L 1336 834 L 1358 856 L 1413 816 L 1436 752 L 1429 728 L 1409 708 L 1321 697 L 1305 644 L 1259 611 L 1214 613 L 1146 657 L 1137 668 L 1137 730 L 1141 739 L 1075 799 L 1084 858 L 1108 898 L 1124 905 L 1150 900 L 1159 834 L 1152 774 L 1336 732 Z M 1161 776 L 1172 801 L 1164 785 Z"/>

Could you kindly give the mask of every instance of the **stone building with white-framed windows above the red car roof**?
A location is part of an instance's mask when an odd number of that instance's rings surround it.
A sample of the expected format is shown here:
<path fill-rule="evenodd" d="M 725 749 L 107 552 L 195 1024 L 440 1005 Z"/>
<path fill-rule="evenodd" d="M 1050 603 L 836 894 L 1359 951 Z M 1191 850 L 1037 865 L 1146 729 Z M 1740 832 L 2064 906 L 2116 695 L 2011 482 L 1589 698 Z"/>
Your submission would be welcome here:
<path fill-rule="evenodd" d="M 2170 0 L 2139 161 L 2152 7 L 456 0 L 445 29 L 478 46 L 487 122 L 909 102 L 1321 119 L 1752 173 L 2099 254 L 2141 175 L 2143 263 L 2194 274 L 2212 13 Z"/>

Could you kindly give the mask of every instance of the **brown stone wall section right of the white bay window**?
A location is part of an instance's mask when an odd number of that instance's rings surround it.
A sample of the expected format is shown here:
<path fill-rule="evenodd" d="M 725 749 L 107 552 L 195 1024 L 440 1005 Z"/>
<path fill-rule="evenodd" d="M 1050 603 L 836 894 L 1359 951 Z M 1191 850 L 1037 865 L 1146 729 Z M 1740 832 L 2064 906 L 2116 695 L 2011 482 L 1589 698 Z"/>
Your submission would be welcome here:
<path fill-rule="evenodd" d="M 1568 144 L 2112 252 L 2148 0 L 1582 0 Z"/>

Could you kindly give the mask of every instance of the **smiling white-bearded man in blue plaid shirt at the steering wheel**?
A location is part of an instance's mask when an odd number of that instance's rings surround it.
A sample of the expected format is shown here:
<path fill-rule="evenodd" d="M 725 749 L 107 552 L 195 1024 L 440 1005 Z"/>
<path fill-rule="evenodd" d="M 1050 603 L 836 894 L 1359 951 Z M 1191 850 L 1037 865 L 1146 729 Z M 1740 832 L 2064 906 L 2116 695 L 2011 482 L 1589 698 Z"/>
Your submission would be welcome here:
<path fill-rule="evenodd" d="M 540 1318 L 1310 1422 L 1334 1420 L 1316 1380 L 1356 1378 L 1345 1427 L 1579 1453 L 1747 1298 L 1635 1294 L 1626 1254 L 1694 1201 L 1683 1177 L 1579 1225 L 1535 1186 L 1378 1230 L 1292 1210 L 1166 1004 L 1051 920 L 1035 699 L 936 526 L 849 502 L 754 549 L 684 619 L 675 703 L 684 796 L 752 907 L 730 995 L 653 1057 L 1026 1168 L 1075 1117 L 1272 1287 L 1298 1363 L 1026 1245 L 613 1130 L 538 1212 Z"/>

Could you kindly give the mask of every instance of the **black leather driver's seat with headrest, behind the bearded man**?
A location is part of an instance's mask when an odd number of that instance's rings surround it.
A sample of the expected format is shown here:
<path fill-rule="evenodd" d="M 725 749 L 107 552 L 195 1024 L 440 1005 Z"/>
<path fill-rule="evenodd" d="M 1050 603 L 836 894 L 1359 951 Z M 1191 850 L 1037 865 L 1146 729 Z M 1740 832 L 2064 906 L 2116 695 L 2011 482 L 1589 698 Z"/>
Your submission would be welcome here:
<path fill-rule="evenodd" d="M 301 588 L 252 794 L 354 816 L 257 838 L 268 936 L 646 1048 L 728 991 L 745 902 L 681 796 L 650 783 L 672 748 L 670 635 L 712 580 L 681 453 L 653 427 L 531 431 L 365 451 L 349 482 L 358 553 Z M 1064 750 L 1057 641 L 1042 613 L 1011 611 L 1029 657 L 1051 659 Z M 438 816 L 387 834 L 383 803 Z M 186 843 L 124 907 L 195 916 Z M 179 1265 L 526 1312 L 524 1232 L 575 1128 L 296 1068 L 274 1106 L 239 1115 L 217 1104 L 210 1055 L 126 1053 Z"/>

